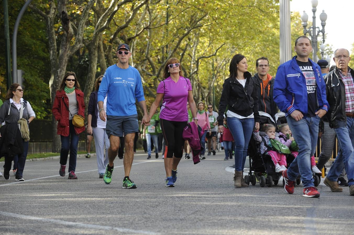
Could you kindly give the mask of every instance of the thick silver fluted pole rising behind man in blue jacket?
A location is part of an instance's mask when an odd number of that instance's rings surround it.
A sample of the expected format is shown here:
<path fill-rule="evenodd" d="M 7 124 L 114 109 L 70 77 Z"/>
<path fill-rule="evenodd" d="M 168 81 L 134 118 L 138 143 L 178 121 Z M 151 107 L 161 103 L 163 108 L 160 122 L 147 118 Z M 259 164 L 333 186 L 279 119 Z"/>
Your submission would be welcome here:
<path fill-rule="evenodd" d="M 280 64 L 291 60 L 290 0 L 280 3 Z"/>

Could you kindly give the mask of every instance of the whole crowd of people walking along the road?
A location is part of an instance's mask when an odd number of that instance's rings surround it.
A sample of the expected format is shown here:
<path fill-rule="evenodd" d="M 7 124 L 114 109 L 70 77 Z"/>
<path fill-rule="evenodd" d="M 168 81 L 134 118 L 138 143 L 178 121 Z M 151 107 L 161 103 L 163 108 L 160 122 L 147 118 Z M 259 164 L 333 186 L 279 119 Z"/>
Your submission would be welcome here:
<path fill-rule="evenodd" d="M 339 182 L 341 186 L 349 186 L 350 195 L 354 195 L 354 71 L 348 67 L 349 52 L 335 50 L 335 66 L 330 71 L 327 61 L 315 63 L 309 59 L 312 47 L 306 36 L 296 39 L 294 50 L 296 56 L 278 67 L 275 78 L 268 73 L 266 57 L 256 60 L 257 73 L 252 76 L 248 72 L 247 58 L 242 54 L 234 55 L 229 77 L 223 84 L 218 113 L 211 104 L 195 103 L 192 84 L 184 77 L 182 64 L 178 59 L 170 58 L 165 63 L 155 101 L 148 111 L 140 74 L 129 65 L 130 47 L 120 44 L 116 50 L 118 62 L 96 79 L 95 91 L 88 104 L 86 132 L 90 139 L 88 143 L 91 143 L 92 135 L 95 139 L 99 178 L 106 184 L 112 182 L 114 160 L 118 155 L 124 157 L 122 187 L 137 188 L 130 179 L 130 171 L 140 135 L 146 144 L 148 159 L 152 155 L 152 145 L 155 158 L 159 158 L 162 151 L 166 187 L 175 186 L 183 154 L 187 159 L 192 155 L 196 163 L 206 159 L 205 152 L 215 155 L 220 141 L 223 142 L 224 160 L 234 156 L 234 187 L 248 187 L 243 171 L 246 156 L 254 151 L 254 146 L 249 149 L 254 139 L 262 156 L 268 156 L 275 172 L 284 177 L 287 193 L 294 192 L 294 183 L 300 175 L 303 196 L 319 197 L 312 176 L 325 167 L 337 138 L 338 155 L 324 183 L 331 191 L 342 192 Z M 143 111 L 140 125 L 136 103 Z M 286 119 L 280 126 L 274 121 L 279 112 L 284 113 Z M 68 179 L 77 179 L 76 155 L 79 134 L 85 131 L 85 104 L 74 72 L 63 77 L 52 113 L 58 121 L 57 134 L 61 137 L 59 174 L 65 176 L 68 168 Z M 0 108 L 5 179 L 9 179 L 14 161 L 16 181 L 24 181 L 28 124 L 34 118 L 30 103 L 23 99 L 22 87 L 12 84 Z M 188 128 L 190 136 L 199 140 L 198 143 L 191 138 L 186 141 Z M 314 153 L 318 137 L 322 138 L 322 145 L 316 164 Z M 13 139 L 18 146 L 4 151 L 4 146 Z M 294 157 L 291 164 L 287 164 L 288 155 Z M 86 157 L 90 157 L 89 149 Z M 347 174 L 348 182 L 344 174 Z"/>

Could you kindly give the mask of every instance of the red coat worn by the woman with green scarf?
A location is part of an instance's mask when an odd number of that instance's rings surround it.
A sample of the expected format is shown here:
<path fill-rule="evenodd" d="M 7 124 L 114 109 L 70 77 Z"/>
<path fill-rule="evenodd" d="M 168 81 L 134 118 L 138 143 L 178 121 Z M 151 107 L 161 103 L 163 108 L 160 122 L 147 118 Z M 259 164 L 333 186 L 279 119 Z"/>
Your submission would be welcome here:
<path fill-rule="evenodd" d="M 75 88 L 76 100 L 78 101 L 78 115 L 85 118 L 85 104 L 84 104 L 84 92 Z M 65 104 L 63 103 L 65 102 Z M 58 90 L 55 94 L 55 100 L 53 103 L 52 113 L 55 120 L 58 121 L 58 135 L 69 136 L 69 98 L 65 94 L 64 90 Z M 74 115 L 74 114 L 73 114 Z M 85 126 L 74 126 L 75 133 L 80 134 L 85 131 Z"/>

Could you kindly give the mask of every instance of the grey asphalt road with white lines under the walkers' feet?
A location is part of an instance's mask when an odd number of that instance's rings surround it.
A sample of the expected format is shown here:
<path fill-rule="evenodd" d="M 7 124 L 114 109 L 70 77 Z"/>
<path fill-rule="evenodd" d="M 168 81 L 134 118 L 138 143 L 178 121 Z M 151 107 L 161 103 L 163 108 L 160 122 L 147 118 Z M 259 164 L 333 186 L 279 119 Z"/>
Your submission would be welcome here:
<path fill-rule="evenodd" d="M 223 153 L 194 165 L 182 159 L 174 188 L 163 159 L 136 154 L 122 189 L 123 161 L 113 180 L 98 179 L 95 157 L 78 158 L 78 180 L 58 175 L 59 160 L 27 162 L 24 182 L 0 177 L 0 234 L 354 234 L 354 197 L 321 183 L 320 198 L 278 186 L 233 187 Z M 228 171 L 229 170 L 229 171 Z"/>

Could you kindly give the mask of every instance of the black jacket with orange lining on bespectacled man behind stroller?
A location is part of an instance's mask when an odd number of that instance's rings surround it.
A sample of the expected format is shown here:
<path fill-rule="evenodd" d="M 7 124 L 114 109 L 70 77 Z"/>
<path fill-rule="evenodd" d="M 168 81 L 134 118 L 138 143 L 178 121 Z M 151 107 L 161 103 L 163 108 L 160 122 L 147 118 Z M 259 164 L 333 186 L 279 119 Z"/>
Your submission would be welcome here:
<path fill-rule="evenodd" d="M 275 120 L 274 116 L 276 113 L 278 113 L 278 108 L 276 107 L 276 103 L 273 100 L 273 86 L 275 79 L 271 77 L 265 87 L 263 87 L 263 80 L 259 78 L 258 73 L 253 76 L 253 80 L 255 80 L 255 85 L 257 88 L 258 110 L 264 113 L 268 113 L 270 116 L 272 116 L 273 120 Z M 267 117 L 261 116 L 260 119 L 261 124 L 268 123 Z"/>

